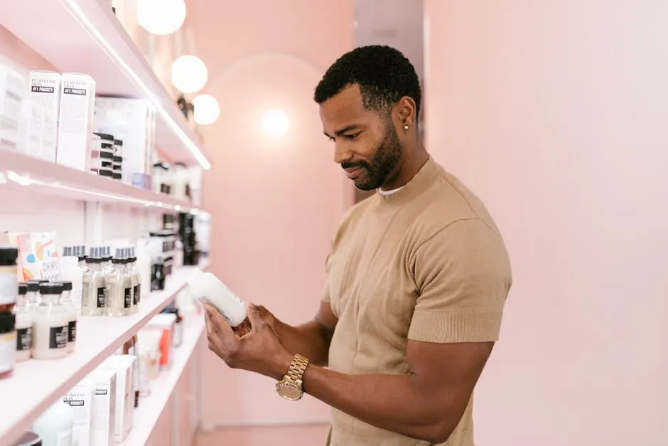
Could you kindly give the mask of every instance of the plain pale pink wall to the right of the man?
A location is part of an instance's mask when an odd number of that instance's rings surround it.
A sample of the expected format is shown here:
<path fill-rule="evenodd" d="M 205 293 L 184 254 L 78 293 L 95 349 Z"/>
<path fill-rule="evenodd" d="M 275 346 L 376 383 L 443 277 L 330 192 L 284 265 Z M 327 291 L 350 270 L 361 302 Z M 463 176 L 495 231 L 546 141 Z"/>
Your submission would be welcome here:
<path fill-rule="evenodd" d="M 476 444 L 666 445 L 667 4 L 425 3 L 427 147 L 515 275 Z"/>

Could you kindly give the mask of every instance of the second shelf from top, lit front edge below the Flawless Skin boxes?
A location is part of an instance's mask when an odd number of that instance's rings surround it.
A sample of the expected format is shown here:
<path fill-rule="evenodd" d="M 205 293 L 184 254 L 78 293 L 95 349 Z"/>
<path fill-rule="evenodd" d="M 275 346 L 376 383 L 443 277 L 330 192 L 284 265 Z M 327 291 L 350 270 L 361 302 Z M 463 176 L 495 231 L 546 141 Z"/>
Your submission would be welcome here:
<path fill-rule="evenodd" d="M 120 203 L 136 208 L 196 211 L 190 203 L 139 189 L 91 172 L 72 169 L 20 152 L 0 151 L 0 190 L 34 191 L 82 201 Z"/>

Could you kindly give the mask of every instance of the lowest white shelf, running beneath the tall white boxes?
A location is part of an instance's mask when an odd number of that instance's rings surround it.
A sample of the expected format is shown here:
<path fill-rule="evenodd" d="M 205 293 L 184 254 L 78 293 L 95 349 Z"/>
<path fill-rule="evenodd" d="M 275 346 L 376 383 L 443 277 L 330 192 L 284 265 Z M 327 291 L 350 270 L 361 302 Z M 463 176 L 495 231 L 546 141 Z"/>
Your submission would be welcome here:
<path fill-rule="evenodd" d="M 193 356 L 204 331 L 204 316 L 193 314 L 184 319 L 184 324 L 183 343 L 174 349 L 171 368 L 163 371 L 155 381 L 151 381 L 151 395 L 139 400 L 139 407 L 134 410 L 134 425 L 122 445 L 146 445 L 178 379 L 183 374 L 185 365 L 190 361 L 190 356 Z"/>

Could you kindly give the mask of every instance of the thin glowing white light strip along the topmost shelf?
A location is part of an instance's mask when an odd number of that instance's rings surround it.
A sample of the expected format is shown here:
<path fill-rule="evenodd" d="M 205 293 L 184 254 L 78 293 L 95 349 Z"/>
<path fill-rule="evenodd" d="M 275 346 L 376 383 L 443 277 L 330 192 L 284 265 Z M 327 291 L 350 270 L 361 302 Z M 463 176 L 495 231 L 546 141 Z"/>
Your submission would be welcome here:
<path fill-rule="evenodd" d="M 141 88 L 141 90 L 144 92 L 144 95 L 149 98 L 151 102 L 153 102 L 153 105 L 156 107 L 158 112 L 160 113 L 161 117 L 163 120 L 167 123 L 167 125 L 172 129 L 172 132 L 174 132 L 179 139 L 185 144 L 185 147 L 188 148 L 190 153 L 195 156 L 195 159 L 197 159 L 198 163 L 200 163 L 200 166 L 202 166 L 203 169 L 210 169 L 211 164 L 206 159 L 206 156 L 200 151 L 199 147 L 197 147 L 197 144 L 193 142 L 190 137 L 188 137 L 185 132 L 183 132 L 183 129 L 181 128 L 180 125 L 176 123 L 169 114 L 169 112 L 163 107 L 161 100 L 153 94 L 151 89 L 149 88 L 148 85 L 144 83 L 143 80 L 141 80 L 141 77 L 137 75 L 137 73 L 130 68 L 130 66 L 124 62 L 124 60 L 121 58 L 121 56 L 114 50 L 112 45 L 107 42 L 107 39 L 102 36 L 102 33 L 97 31 L 97 28 L 95 28 L 95 25 L 91 23 L 90 20 L 86 17 L 86 15 L 83 13 L 81 10 L 80 6 L 77 4 L 75 0 L 60 0 L 61 3 L 65 4 L 65 6 L 70 9 L 70 12 L 72 13 L 73 16 L 77 18 L 77 21 L 82 24 L 82 26 L 85 26 L 86 31 L 90 33 L 91 36 L 95 37 L 95 40 L 102 46 L 104 51 L 109 55 L 114 62 L 119 65 L 122 70 L 128 75 L 132 80 L 134 80 L 134 83 Z"/>

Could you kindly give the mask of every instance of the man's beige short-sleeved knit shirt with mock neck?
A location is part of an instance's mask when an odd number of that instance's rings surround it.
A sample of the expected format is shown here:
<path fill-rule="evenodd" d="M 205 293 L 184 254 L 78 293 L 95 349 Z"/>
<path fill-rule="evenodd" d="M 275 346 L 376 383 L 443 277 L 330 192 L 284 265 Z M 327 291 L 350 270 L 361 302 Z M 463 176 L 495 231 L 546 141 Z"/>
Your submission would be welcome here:
<path fill-rule="evenodd" d="M 409 372 L 409 339 L 496 341 L 512 278 L 480 200 L 429 159 L 409 184 L 353 206 L 325 262 L 323 300 L 338 317 L 329 366 Z M 445 444 L 473 446 L 472 403 Z M 330 446 L 426 446 L 333 410 Z"/>

